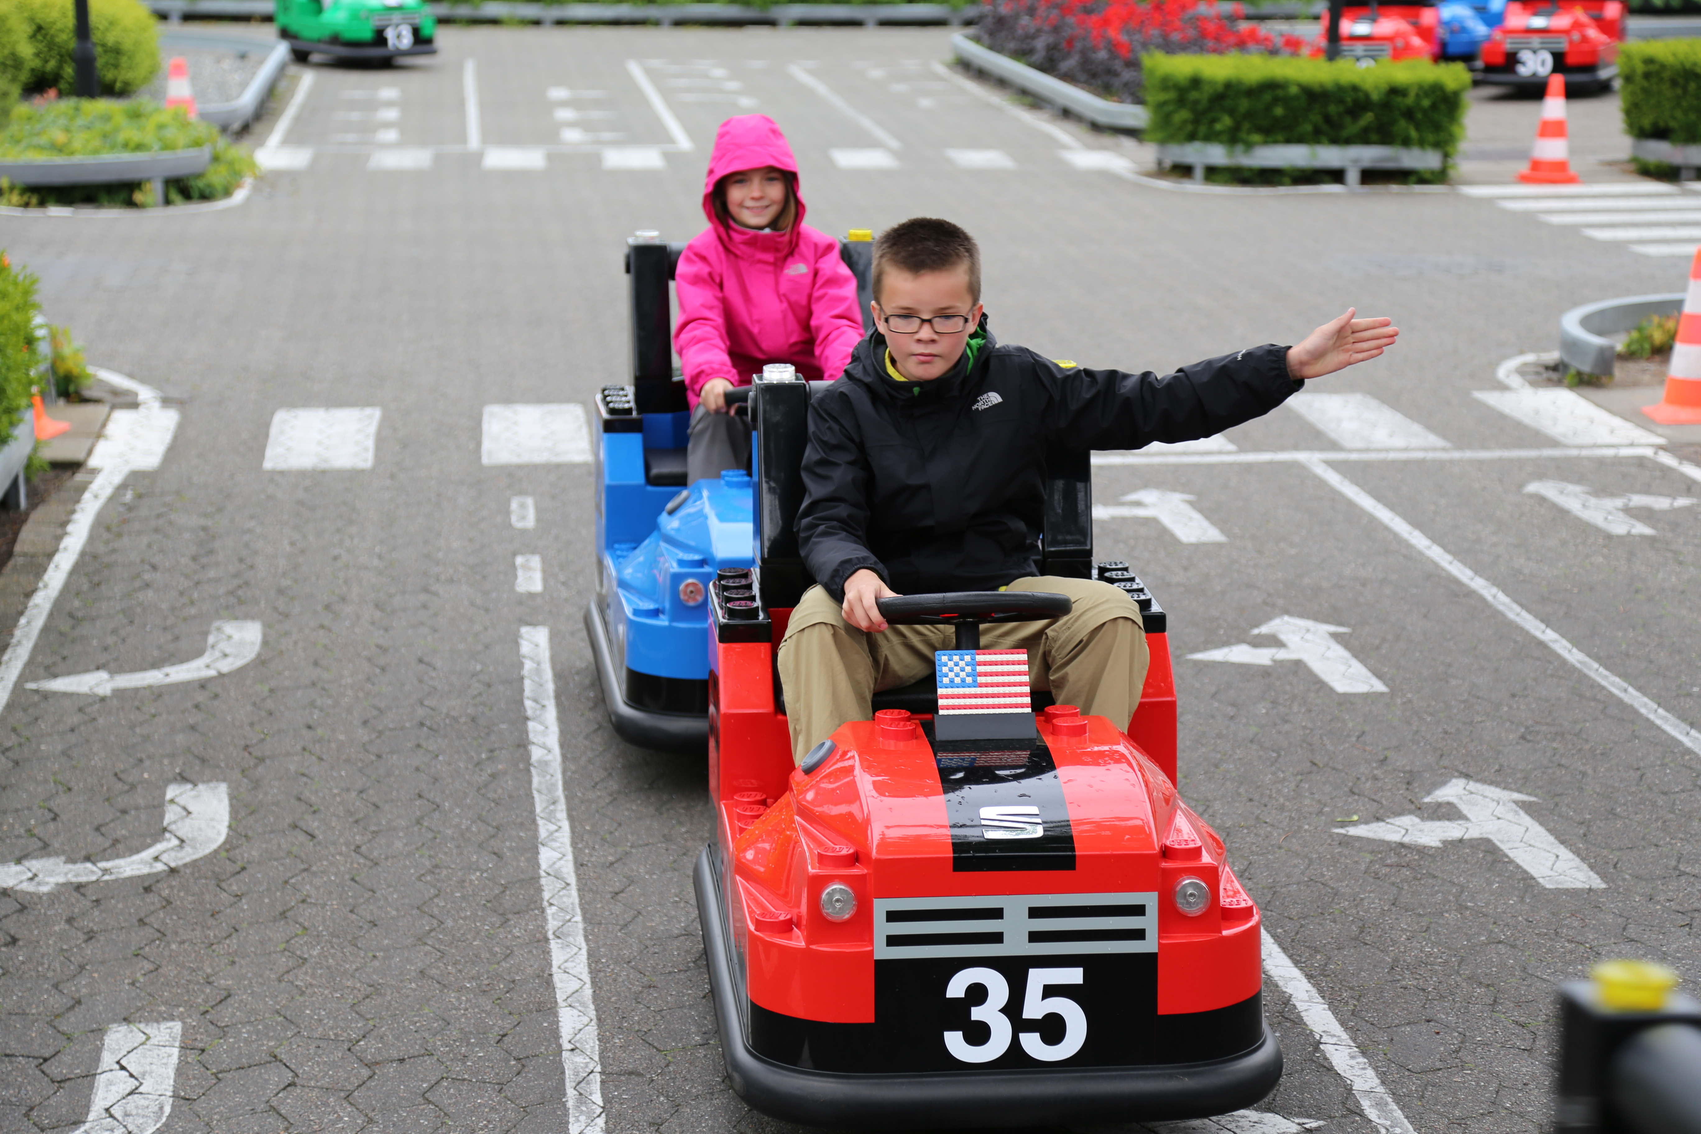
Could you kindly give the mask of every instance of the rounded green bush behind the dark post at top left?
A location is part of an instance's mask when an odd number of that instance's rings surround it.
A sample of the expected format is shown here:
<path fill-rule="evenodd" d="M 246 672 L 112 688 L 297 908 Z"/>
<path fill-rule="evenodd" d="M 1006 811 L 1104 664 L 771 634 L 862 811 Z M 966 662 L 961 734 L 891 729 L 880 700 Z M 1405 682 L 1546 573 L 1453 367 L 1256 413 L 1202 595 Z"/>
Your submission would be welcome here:
<path fill-rule="evenodd" d="M 34 65 L 26 90 L 75 90 L 77 15 L 70 0 L 3 0 L 31 22 Z M 88 0 L 88 26 L 95 41 L 100 94 L 129 95 L 160 70 L 158 20 L 141 0 Z"/>

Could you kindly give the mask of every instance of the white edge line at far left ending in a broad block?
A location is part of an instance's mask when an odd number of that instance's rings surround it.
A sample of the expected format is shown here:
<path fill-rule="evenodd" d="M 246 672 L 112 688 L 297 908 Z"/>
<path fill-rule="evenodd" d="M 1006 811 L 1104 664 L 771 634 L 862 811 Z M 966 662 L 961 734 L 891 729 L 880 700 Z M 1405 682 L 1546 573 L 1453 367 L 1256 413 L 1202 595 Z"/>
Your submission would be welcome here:
<path fill-rule="evenodd" d="M 60 549 L 48 561 L 48 570 L 43 571 L 41 581 L 36 583 L 36 592 L 29 597 L 29 605 L 24 607 L 17 627 L 12 631 L 12 643 L 7 646 L 5 655 L 0 656 L 0 711 L 12 700 L 12 690 L 24 672 L 24 663 L 29 661 L 29 655 L 36 648 L 36 639 L 41 638 L 41 627 L 48 624 L 53 604 L 58 600 L 60 592 L 65 588 L 65 580 L 71 576 L 71 568 L 77 566 L 77 559 L 88 542 L 88 532 L 94 530 L 100 508 L 131 471 L 148 473 L 160 468 L 165 451 L 177 434 L 177 410 L 167 410 L 160 405 L 158 389 L 126 377 L 117 371 L 107 371 L 99 366 L 88 369 L 100 381 L 134 393 L 139 406 L 136 410 L 112 410 L 107 415 L 100 440 L 95 442 L 94 451 L 88 454 L 85 464 L 90 469 L 97 469 L 95 479 L 83 490 L 82 500 L 71 510 L 71 520 L 65 525 Z"/>

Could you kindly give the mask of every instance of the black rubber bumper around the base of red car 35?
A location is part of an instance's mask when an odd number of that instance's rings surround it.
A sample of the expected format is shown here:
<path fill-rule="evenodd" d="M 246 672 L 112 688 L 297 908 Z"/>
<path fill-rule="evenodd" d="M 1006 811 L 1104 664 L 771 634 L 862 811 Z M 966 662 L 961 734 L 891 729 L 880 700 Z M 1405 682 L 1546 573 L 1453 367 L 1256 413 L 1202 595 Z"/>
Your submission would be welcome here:
<path fill-rule="evenodd" d="M 713 847 L 697 857 L 696 889 L 726 1074 L 740 1098 L 776 1119 L 896 1131 L 1203 1119 L 1250 1107 L 1281 1081 L 1281 1047 L 1267 1023 L 1255 1047 L 1211 1063 L 927 1074 L 782 1066 L 750 1051 L 745 1037 Z"/>

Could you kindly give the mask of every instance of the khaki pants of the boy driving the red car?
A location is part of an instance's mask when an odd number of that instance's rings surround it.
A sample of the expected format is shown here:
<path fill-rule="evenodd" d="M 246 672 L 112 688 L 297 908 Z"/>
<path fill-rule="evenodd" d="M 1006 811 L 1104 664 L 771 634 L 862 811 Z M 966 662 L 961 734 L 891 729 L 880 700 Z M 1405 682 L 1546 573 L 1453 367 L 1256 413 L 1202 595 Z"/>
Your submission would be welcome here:
<path fill-rule="evenodd" d="M 1140 607 L 1116 587 L 1082 578 L 1019 578 L 1007 590 L 1068 595 L 1075 609 L 1048 622 L 983 626 L 981 648 L 1026 649 L 1034 689 L 1050 689 L 1060 706 L 1078 706 L 1126 729 L 1150 663 Z M 953 641 L 949 626 L 891 626 L 868 634 L 844 621 L 825 590 L 806 590 L 779 643 L 793 760 L 801 762 L 845 721 L 873 721 L 869 699 L 932 673 L 934 651 L 951 649 Z"/>

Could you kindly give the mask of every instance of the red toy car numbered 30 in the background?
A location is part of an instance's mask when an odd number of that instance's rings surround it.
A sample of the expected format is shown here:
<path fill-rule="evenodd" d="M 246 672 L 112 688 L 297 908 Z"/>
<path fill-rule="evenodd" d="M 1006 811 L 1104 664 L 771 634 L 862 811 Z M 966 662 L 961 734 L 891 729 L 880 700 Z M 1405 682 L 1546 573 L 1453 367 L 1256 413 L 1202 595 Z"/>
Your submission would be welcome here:
<path fill-rule="evenodd" d="M 1483 44 L 1482 82 L 1539 90 L 1550 75 L 1563 75 L 1567 94 L 1606 90 L 1618 77 L 1623 37 L 1624 5 L 1619 0 L 1563 9 L 1510 0 L 1505 24 Z"/>

